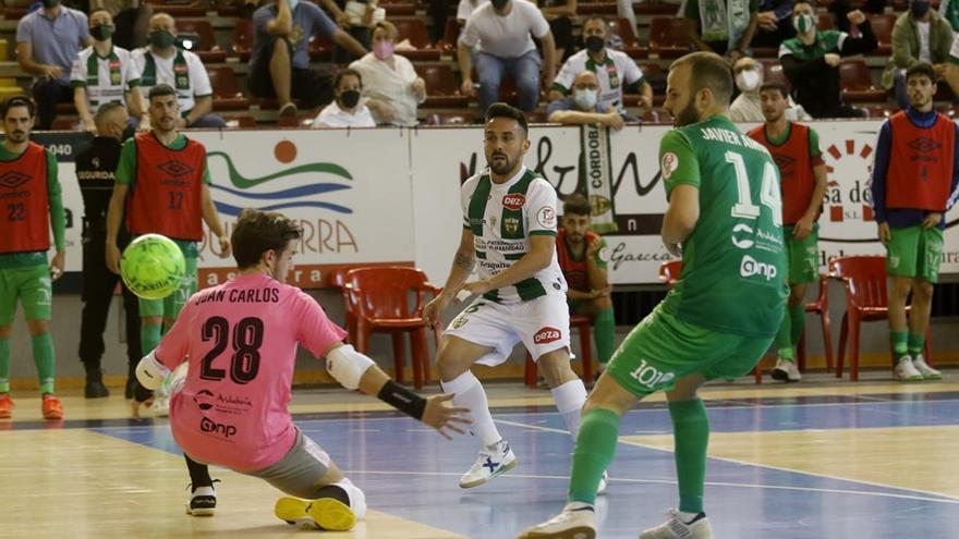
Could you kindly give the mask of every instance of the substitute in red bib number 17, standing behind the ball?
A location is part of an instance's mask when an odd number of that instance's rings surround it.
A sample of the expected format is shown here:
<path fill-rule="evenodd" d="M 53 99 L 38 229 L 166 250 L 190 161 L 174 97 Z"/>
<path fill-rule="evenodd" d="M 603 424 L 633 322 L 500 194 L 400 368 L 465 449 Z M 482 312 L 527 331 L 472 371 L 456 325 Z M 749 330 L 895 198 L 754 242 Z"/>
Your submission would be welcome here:
<path fill-rule="evenodd" d="M 219 240 L 219 256 L 230 256 L 230 238 L 209 194 L 206 148 L 177 131 L 180 106 L 177 93 L 160 84 L 150 88 L 149 115 L 153 131 L 139 133 L 123 145 L 116 184 L 107 213 L 107 267 L 120 272 L 117 235 L 126 216 L 133 236 L 162 234 L 180 246 L 186 258 L 186 277 L 180 290 L 163 299 L 139 299 L 141 348 L 148 354 L 160 342 L 162 329 L 173 326 L 183 305 L 196 292 L 197 242 L 203 241 L 203 222 Z M 163 412 L 162 397 L 155 404 Z"/>

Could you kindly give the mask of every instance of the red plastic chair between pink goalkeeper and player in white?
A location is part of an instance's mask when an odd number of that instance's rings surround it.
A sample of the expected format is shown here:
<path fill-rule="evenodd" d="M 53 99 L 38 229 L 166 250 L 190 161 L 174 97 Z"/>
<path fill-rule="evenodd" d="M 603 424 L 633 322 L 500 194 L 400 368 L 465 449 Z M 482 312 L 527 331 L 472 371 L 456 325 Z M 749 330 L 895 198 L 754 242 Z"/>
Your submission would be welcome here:
<path fill-rule="evenodd" d="M 348 307 L 356 320 L 356 348 L 365 354 L 369 350 L 372 333 L 389 333 L 393 340 L 396 379 L 403 382 L 403 334 L 410 333 L 413 346 L 413 385 L 416 389 L 423 388 L 430 378 L 429 350 L 426 345 L 426 330 L 429 326 L 423 318 L 423 307 L 426 305 L 426 293 L 436 296 L 440 289 L 429 284 L 423 271 L 394 266 L 353 269 L 347 273 L 343 287 L 350 294 Z M 410 292 L 415 293 L 412 306 Z M 434 330 L 434 338 L 439 345 L 438 330 Z"/>

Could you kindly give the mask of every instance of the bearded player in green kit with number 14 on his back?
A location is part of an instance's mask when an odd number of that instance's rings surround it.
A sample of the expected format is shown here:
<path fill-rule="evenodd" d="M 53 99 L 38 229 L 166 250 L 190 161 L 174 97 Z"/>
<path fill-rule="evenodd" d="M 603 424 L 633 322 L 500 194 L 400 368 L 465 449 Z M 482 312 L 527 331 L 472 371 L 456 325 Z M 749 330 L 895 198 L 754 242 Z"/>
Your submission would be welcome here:
<path fill-rule="evenodd" d="M 679 509 L 640 539 L 713 538 L 703 511 L 709 421 L 696 391 L 755 366 L 776 336 L 787 296 L 779 172 L 726 117 L 731 94 L 729 66 L 715 53 L 687 54 L 669 70 L 665 107 L 677 128 L 659 147 L 669 200 L 663 242 L 682 256 L 682 273 L 590 394 L 562 513 L 521 539 L 596 537 L 596 486 L 612 462 L 620 417 L 655 391 L 669 402 Z"/>

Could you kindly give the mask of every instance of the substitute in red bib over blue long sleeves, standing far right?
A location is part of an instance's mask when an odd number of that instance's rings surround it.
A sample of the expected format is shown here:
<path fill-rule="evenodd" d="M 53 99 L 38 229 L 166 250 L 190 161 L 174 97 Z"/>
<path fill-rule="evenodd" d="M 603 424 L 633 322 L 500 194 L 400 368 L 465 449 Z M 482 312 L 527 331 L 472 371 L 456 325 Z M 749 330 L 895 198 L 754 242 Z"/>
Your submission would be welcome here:
<path fill-rule="evenodd" d="M 936 72 L 927 63 L 906 71 L 909 108 L 883 122 L 873 168 L 873 208 L 886 246 L 889 340 L 896 378 L 942 378 L 922 355 L 933 286 L 943 259 L 946 211 L 956 203 L 959 127 L 936 112 Z M 912 308 L 906 320 L 906 301 Z"/>

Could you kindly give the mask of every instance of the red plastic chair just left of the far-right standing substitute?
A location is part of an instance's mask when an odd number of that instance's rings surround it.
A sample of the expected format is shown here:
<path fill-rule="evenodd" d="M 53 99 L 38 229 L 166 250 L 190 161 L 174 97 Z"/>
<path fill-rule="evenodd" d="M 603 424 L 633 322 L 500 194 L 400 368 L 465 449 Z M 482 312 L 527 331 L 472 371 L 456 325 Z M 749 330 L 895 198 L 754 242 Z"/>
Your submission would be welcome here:
<path fill-rule="evenodd" d="M 859 326 L 860 322 L 887 320 L 889 303 L 886 290 L 886 258 L 882 256 L 847 256 L 829 260 L 829 273 L 841 279 L 846 285 L 846 314 L 839 333 L 839 356 L 836 378 L 842 378 L 846 340 L 849 339 L 849 380 L 859 380 Z M 907 306 L 906 310 L 909 311 Z M 925 359 L 933 364 L 930 353 L 932 335 L 925 334 Z"/>

